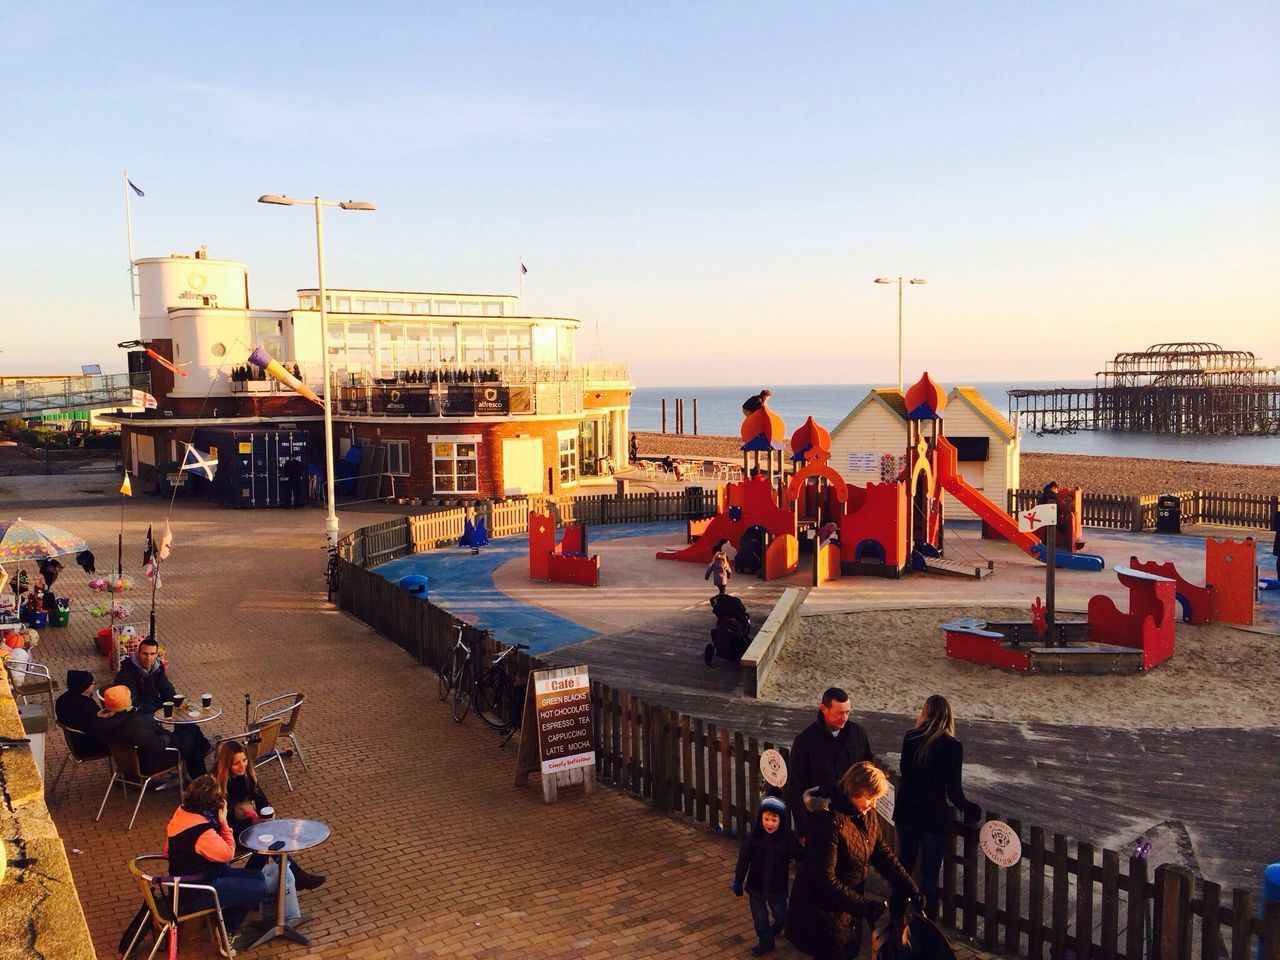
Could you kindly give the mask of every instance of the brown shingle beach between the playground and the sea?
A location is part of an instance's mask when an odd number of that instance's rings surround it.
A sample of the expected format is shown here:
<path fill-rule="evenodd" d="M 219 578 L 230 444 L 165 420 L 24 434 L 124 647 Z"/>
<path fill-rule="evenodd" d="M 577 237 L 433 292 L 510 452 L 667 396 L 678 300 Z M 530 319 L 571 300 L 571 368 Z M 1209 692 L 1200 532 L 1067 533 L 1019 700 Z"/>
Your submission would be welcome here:
<path fill-rule="evenodd" d="M 742 442 L 736 436 L 636 433 L 641 457 L 717 458 L 740 461 Z M 1178 490 L 1217 490 L 1272 495 L 1280 493 L 1280 467 L 1207 463 L 1189 460 L 1094 457 L 1074 453 L 1023 453 L 1023 489 L 1057 480 L 1062 486 L 1133 497 Z"/>

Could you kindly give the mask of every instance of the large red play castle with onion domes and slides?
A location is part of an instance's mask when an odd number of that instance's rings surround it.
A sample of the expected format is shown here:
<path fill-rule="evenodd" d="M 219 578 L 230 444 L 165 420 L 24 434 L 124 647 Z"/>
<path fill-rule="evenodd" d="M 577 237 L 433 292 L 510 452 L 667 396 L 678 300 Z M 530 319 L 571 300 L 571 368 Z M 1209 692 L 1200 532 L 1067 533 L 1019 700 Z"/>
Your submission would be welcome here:
<path fill-rule="evenodd" d="M 714 517 L 690 525 L 692 543 L 659 559 L 708 563 L 726 543 L 740 573 L 765 580 L 799 564 L 801 534 L 814 540 L 818 585 L 841 573 L 899 577 L 916 571 L 974 577 L 987 570 L 943 559 L 942 492 L 1029 556 L 1039 540 L 960 476 L 942 431 L 946 393 L 928 374 L 906 392 L 906 467 L 891 483 L 849 484 L 831 467 L 831 434 L 813 417 L 791 435 L 791 471 L 782 460 L 782 419 L 767 404 L 742 420 L 742 483 L 728 484 Z M 835 554 L 838 552 L 838 563 Z"/>

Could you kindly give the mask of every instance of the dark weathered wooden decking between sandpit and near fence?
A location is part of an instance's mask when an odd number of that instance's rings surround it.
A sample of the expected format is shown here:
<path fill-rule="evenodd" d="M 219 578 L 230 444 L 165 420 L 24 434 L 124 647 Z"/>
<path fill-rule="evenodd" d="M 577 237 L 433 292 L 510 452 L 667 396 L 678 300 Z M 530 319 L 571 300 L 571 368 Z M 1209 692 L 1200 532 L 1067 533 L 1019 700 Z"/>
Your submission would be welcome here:
<path fill-rule="evenodd" d="M 753 635 L 781 585 L 741 591 Z M 815 717 L 813 704 L 749 700 L 736 666 L 701 652 L 714 625 L 696 608 L 548 654 L 554 663 L 588 663 L 591 676 L 653 703 L 790 745 Z M 922 691 L 923 695 L 928 691 Z M 869 713 L 854 704 L 877 754 L 896 767 L 902 733 L 914 718 Z M 1256 890 L 1280 850 L 1280 728 L 1114 730 L 1052 723 L 964 721 L 965 788 L 984 808 L 1041 824 L 1128 856 L 1158 824 L 1180 824 L 1194 869 L 1224 886 Z"/>

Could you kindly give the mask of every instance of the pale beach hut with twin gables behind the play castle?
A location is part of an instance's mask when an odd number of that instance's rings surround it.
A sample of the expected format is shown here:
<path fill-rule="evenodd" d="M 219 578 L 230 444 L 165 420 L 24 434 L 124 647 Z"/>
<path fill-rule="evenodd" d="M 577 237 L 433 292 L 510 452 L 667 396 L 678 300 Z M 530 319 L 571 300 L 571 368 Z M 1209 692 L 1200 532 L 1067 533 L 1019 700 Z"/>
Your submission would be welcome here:
<path fill-rule="evenodd" d="M 1005 506 L 1005 492 L 1018 486 L 1018 430 L 973 387 L 947 396 L 943 429 L 959 453 L 960 475 L 987 499 Z M 876 388 L 831 431 L 831 465 L 851 484 L 897 477 L 906 457 L 906 401 L 893 388 Z M 945 497 L 946 516 L 974 515 Z"/>

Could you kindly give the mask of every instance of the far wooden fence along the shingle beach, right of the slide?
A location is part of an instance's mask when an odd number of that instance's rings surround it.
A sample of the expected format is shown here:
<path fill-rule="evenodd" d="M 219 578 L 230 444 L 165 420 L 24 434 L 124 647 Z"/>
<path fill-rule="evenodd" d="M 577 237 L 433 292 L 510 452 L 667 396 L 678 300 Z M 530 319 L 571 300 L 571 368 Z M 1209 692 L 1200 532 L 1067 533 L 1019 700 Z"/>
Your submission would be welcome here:
<path fill-rule="evenodd" d="M 1010 490 L 1009 511 L 1016 513 L 1034 507 L 1039 494 L 1039 490 Z M 1169 495 L 1178 497 L 1183 524 L 1271 530 L 1272 517 L 1280 509 L 1280 497 L 1276 495 L 1215 490 L 1174 490 Z M 1155 530 L 1158 500 L 1160 497 L 1153 493 L 1121 497 L 1085 492 L 1080 502 L 1080 521 L 1084 526 L 1129 530 L 1135 534 Z"/>

